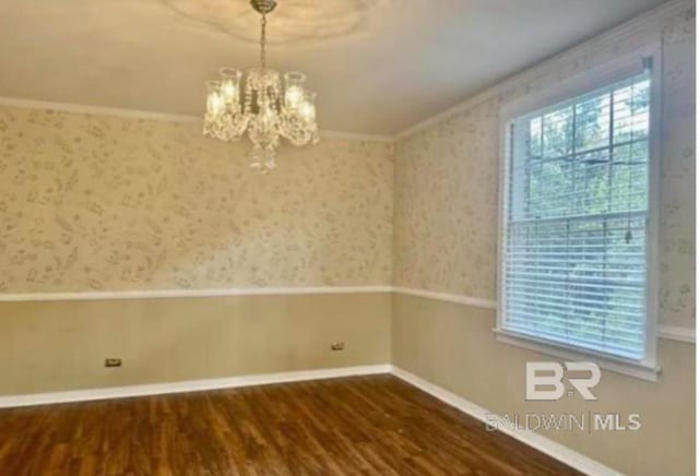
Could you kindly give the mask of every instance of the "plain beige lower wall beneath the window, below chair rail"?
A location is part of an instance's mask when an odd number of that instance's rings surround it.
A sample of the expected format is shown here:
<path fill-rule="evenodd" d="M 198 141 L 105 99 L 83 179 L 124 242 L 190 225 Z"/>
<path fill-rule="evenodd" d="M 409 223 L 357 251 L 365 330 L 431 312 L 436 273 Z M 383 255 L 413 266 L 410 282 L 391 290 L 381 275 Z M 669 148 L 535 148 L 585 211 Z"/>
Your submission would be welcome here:
<path fill-rule="evenodd" d="M 495 311 L 394 295 L 392 362 L 497 414 L 629 413 L 636 432 L 546 437 L 630 475 L 695 474 L 695 346 L 661 340 L 657 382 L 603 370 L 596 402 L 525 402 L 528 360 L 555 360 L 495 340 Z"/>

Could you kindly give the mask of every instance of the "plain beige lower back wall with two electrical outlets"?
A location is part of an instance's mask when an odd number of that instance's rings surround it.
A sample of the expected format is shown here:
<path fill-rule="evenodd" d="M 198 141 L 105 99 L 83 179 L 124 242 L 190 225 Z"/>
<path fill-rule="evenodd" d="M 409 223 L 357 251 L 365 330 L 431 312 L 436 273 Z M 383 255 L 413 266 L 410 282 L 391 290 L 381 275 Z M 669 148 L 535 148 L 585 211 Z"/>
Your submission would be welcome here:
<path fill-rule="evenodd" d="M 2 302 L 0 395 L 389 364 L 390 321 L 388 293 Z"/>

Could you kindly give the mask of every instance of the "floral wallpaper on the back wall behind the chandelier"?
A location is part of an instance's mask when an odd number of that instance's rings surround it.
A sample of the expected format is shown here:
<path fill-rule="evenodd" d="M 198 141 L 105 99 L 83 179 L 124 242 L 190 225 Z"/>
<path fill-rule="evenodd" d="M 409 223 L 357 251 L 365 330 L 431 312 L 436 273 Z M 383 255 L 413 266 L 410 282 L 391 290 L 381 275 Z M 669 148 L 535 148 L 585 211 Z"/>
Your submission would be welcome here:
<path fill-rule="evenodd" d="M 0 293 L 390 284 L 391 146 L 0 108 Z"/>

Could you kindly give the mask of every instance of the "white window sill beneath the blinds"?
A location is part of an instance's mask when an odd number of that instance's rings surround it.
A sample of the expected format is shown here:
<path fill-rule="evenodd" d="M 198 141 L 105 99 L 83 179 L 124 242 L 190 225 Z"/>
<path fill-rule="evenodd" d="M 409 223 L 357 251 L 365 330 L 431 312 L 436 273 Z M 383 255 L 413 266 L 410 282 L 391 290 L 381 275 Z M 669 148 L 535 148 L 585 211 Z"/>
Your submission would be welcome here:
<path fill-rule="evenodd" d="M 660 367 L 648 365 L 645 362 L 628 360 L 624 358 L 614 358 L 587 349 L 557 345 L 549 341 L 538 340 L 529 335 L 521 335 L 516 332 L 506 331 L 503 329 L 496 328 L 493 331 L 496 334 L 496 340 L 503 344 L 535 350 L 542 354 L 550 355 L 553 357 L 566 359 L 567 361 L 592 361 L 599 365 L 601 369 L 629 377 L 635 377 L 637 379 L 647 380 L 650 382 L 657 381 L 657 374 L 661 370 Z"/>

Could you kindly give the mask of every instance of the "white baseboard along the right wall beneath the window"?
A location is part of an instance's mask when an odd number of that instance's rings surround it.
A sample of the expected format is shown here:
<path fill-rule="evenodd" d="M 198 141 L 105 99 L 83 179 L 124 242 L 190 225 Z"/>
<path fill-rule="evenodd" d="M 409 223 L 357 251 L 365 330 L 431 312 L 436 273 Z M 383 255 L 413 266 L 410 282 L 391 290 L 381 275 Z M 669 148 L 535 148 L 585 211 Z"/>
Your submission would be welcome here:
<path fill-rule="evenodd" d="M 406 370 L 401 369 L 400 367 L 391 366 L 391 373 L 398 377 L 401 380 L 406 381 L 411 385 L 417 386 L 418 389 L 429 393 L 430 395 L 441 400 L 448 405 L 451 405 L 461 412 L 471 415 L 474 418 L 479 419 L 481 421 L 486 423 L 487 416 L 491 414 L 487 409 L 482 406 L 476 405 L 473 402 L 470 402 L 455 393 L 452 393 L 439 385 L 436 385 L 427 380 L 415 376 Z M 549 440 L 546 437 L 543 437 L 538 433 L 535 433 L 530 430 L 522 429 L 508 429 L 503 428 L 502 431 L 506 435 L 521 441 L 522 443 L 534 448 L 535 450 L 541 451 L 554 457 L 570 467 L 573 467 L 584 474 L 591 476 L 620 476 L 621 473 L 612 469 L 608 466 L 605 466 L 602 463 L 599 463 L 591 457 L 588 457 L 577 451 L 571 450 L 568 447 L 564 447 L 560 443 L 557 443 L 553 440 Z"/>

